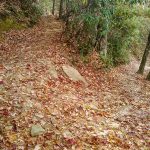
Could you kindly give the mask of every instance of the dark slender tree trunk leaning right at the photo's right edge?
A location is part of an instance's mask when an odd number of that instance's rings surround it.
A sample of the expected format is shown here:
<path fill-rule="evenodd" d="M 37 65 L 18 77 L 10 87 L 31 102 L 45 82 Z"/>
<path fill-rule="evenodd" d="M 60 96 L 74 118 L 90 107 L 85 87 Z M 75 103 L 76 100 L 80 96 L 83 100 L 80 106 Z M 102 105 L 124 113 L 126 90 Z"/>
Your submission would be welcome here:
<path fill-rule="evenodd" d="M 149 33 L 149 36 L 148 36 L 148 41 L 147 41 L 147 45 L 146 45 L 146 48 L 145 48 L 145 51 L 144 51 L 144 54 L 143 54 L 143 57 L 142 57 L 141 64 L 140 64 L 139 70 L 137 72 L 139 74 L 144 73 L 144 68 L 145 68 L 145 65 L 146 65 L 146 61 L 147 61 L 147 58 L 148 58 L 149 51 L 150 51 L 150 33 Z"/>

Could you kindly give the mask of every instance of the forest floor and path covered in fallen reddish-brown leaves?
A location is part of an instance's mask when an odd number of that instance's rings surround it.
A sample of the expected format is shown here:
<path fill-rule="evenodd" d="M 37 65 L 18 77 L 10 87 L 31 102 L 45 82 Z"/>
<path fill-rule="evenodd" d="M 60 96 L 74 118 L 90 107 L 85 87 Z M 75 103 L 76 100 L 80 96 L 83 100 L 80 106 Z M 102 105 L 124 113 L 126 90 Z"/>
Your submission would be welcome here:
<path fill-rule="evenodd" d="M 62 30 L 51 17 L 34 28 L 5 33 L 0 149 L 148 150 L 150 82 L 136 74 L 137 62 L 95 69 L 60 40 Z M 70 80 L 64 64 L 76 68 L 88 86 Z M 50 75 L 52 65 L 58 77 Z"/>

